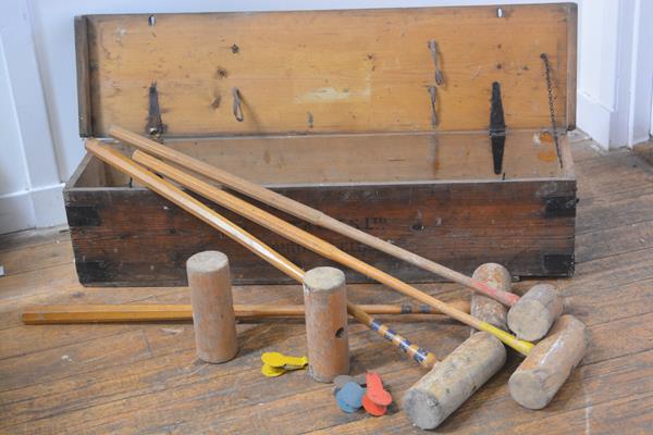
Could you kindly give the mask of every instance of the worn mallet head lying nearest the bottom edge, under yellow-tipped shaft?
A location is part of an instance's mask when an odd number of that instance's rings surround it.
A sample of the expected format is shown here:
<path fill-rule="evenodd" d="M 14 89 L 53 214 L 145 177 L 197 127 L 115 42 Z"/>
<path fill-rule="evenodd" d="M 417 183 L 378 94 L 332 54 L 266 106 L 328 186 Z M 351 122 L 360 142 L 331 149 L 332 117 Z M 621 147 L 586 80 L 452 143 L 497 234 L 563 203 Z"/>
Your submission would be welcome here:
<path fill-rule="evenodd" d="M 408 418 L 420 428 L 435 428 L 506 361 L 504 345 L 491 334 L 469 337 L 404 396 Z"/>

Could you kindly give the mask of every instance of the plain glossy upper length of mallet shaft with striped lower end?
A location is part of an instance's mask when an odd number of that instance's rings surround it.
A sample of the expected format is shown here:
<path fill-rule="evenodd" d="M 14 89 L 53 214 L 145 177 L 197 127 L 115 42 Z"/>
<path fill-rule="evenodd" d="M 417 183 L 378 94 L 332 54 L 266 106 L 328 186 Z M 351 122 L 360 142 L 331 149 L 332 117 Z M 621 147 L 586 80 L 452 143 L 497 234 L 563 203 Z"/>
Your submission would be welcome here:
<path fill-rule="evenodd" d="M 282 257 L 280 253 L 274 251 L 272 248 L 254 237 L 251 234 L 247 233 L 245 229 L 235 225 L 233 222 L 226 220 L 215 211 L 211 210 L 207 206 L 202 204 L 195 198 L 190 197 L 187 194 L 184 194 L 181 189 L 178 189 L 173 184 L 161 179 L 152 172 L 147 169 L 140 166 L 136 162 L 127 159 L 125 156 L 120 152 L 103 147 L 98 142 L 97 139 L 89 139 L 86 141 L 86 149 L 96 156 L 98 159 L 102 160 L 104 163 L 108 163 L 120 171 L 131 175 L 133 178 L 136 178 L 145 186 L 159 194 L 160 196 L 167 198 L 168 200 L 174 202 L 176 206 L 186 210 L 188 213 L 200 219 L 207 224 L 211 225 L 213 228 L 220 231 L 225 236 L 230 237 L 234 241 L 243 245 L 245 248 L 249 249 L 263 260 L 268 261 L 270 264 L 284 272 L 289 277 L 295 281 L 301 283 L 304 278 L 305 272 L 292 263 L 286 258 Z M 357 311 L 353 310 L 356 306 L 347 302 L 347 310 L 349 314 L 352 314 L 356 320 L 366 324 L 365 319 L 357 318 Z M 441 310 L 442 312 L 445 312 Z M 465 314 L 465 313 L 463 313 Z M 469 315 L 469 314 L 466 314 Z M 379 335 L 382 335 L 379 331 L 375 331 Z M 383 336 L 383 335 L 382 335 Z M 394 344 L 394 341 L 393 341 Z M 397 346 L 398 347 L 398 346 Z M 435 360 L 435 357 L 432 359 L 424 359 L 422 365 L 430 369 L 429 365 L 426 365 L 429 361 Z"/>

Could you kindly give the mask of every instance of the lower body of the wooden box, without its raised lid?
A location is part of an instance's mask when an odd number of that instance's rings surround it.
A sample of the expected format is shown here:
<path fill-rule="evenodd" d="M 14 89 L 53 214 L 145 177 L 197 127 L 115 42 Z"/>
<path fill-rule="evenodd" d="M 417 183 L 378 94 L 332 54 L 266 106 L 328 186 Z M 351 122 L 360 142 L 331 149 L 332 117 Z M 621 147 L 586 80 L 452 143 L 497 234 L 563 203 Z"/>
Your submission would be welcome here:
<path fill-rule="evenodd" d="M 516 276 L 572 273 L 575 203 L 562 212 L 550 206 L 551 200 L 566 204 L 576 197 L 566 137 L 565 165 L 560 170 L 546 135 L 508 135 L 506 181 L 489 175 L 492 167 L 485 135 L 438 135 L 434 148 L 427 140 L 432 135 L 417 135 L 416 140 L 412 137 L 416 135 L 370 135 L 366 139 L 335 135 L 320 139 L 331 140 L 331 145 L 312 150 L 309 139 L 317 138 L 170 144 L 460 272 L 471 274 L 481 263 L 497 261 Z M 238 140 L 258 142 L 260 152 L 244 151 L 257 148 L 239 147 Z M 350 149 L 347 145 L 352 142 L 359 144 L 361 152 L 367 151 L 347 160 L 345 150 Z M 392 150 L 393 142 L 403 151 Z M 328 149 L 333 150 L 332 157 L 338 163 L 335 166 Z M 432 150 L 438 153 L 435 157 Z M 364 154 L 369 159 L 364 159 Z M 480 164 L 483 161 L 486 167 Z M 346 171 L 341 171 L 341 163 Z M 183 263 L 206 249 L 223 251 L 234 259 L 232 274 L 236 283 L 287 282 L 241 247 L 97 159 L 87 159 L 83 165 L 64 192 L 83 283 L 181 285 L 185 283 Z M 244 167 L 248 169 L 247 174 L 243 173 Z M 420 282 L 435 276 L 328 229 L 261 207 L 401 278 Z M 233 213 L 217 210 L 305 269 L 331 264 Z M 149 241 L 143 245 L 141 240 Z M 493 253 L 496 247 L 501 249 Z M 143 257 L 143 251 L 147 256 Z M 347 279 L 364 278 L 348 272 Z"/>

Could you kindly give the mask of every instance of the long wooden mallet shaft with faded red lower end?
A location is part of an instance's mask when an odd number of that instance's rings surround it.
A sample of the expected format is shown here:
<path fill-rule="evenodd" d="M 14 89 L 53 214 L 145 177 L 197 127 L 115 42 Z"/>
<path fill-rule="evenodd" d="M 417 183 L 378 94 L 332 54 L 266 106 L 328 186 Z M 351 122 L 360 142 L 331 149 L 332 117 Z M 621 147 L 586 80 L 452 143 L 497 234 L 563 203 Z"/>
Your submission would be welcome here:
<path fill-rule="evenodd" d="M 360 229 L 344 224 L 316 209 L 312 209 L 306 204 L 295 201 L 294 199 L 276 194 L 255 183 L 248 182 L 247 179 L 241 178 L 226 171 L 220 170 L 219 167 L 212 166 L 206 162 L 194 159 L 189 156 L 184 154 L 183 152 L 157 144 L 153 140 L 145 138 L 133 132 L 114 126 L 109 129 L 109 135 L 116 138 L 118 140 L 130 144 L 140 150 L 147 151 L 152 156 L 169 160 L 198 174 L 214 179 L 236 191 L 239 191 L 241 194 L 247 195 L 279 210 L 285 211 L 286 213 L 310 222 L 313 225 L 319 225 L 323 228 L 331 229 L 335 233 L 347 236 L 354 240 L 370 246 L 390 256 L 411 263 L 418 268 L 432 272 L 436 275 L 443 276 L 458 284 L 463 284 L 473 290 L 480 291 L 493 299 L 496 299 L 508 307 L 512 307 L 519 300 L 519 297 L 517 295 L 502 291 L 498 288 L 491 287 L 478 279 L 473 279 L 449 268 L 446 268 L 434 261 L 431 261 L 406 249 L 403 249 L 396 245 L 392 245 L 383 239 L 380 239 Z"/>

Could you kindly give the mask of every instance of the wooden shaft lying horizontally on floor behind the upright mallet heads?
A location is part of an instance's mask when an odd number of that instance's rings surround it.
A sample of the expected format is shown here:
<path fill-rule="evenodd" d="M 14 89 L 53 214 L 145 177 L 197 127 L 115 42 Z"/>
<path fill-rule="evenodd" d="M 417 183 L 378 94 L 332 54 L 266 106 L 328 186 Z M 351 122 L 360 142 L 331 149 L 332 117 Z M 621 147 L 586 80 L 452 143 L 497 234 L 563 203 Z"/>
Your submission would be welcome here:
<path fill-rule="evenodd" d="M 469 302 L 453 306 L 469 311 Z M 368 314 L 442 314 L 429 306 L 359 304 Z M 234 304 L 238 319 L 304 316 L 304 306 Z M 108 322 L 192 321 L 189 304 L 58 304 L 32 306 L 23 310 L 22 321 L 28 325 Z"/>

